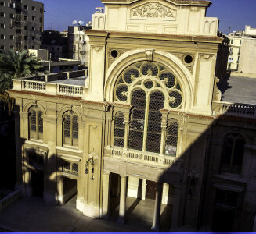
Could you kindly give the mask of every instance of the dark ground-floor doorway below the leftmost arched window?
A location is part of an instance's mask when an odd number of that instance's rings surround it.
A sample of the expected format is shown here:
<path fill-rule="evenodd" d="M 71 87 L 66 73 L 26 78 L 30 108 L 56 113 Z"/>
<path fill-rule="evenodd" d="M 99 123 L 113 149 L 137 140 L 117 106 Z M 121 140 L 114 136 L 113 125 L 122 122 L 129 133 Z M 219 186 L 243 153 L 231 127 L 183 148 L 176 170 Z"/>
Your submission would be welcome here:
<path fill-rule="evenodd" d="M 31 187 L 34 197 L 44 196 L 44 172 L 31 170 Z"/>

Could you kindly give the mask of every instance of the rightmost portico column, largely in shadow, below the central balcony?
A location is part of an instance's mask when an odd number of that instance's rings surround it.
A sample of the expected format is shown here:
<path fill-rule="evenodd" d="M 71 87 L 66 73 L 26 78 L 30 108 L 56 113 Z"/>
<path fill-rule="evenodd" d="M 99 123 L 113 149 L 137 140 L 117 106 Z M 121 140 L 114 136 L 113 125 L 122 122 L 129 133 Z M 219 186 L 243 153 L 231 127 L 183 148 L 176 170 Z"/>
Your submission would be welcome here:
<path fill-rule="evenodd" d="M 160 210 L 161 210 L 162 192 L 163 192 L 163 183 L 157 183 L 155 209 L 153 212 L 153 225 L 151 227 L 151 229 L 156 232 L 160 231 Z"/>

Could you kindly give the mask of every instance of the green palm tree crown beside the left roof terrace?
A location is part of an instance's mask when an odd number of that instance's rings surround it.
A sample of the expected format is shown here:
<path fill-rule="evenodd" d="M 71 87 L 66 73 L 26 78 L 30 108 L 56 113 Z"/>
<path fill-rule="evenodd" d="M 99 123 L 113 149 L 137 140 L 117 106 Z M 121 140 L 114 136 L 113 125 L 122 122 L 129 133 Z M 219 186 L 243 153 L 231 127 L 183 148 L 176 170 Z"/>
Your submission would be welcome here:
<path fill-rule="evenodd" d="M 12 79 L 38 75 L 44 72 L 39 58 L 30 55 L 28 51 L 8 51 L 0 55 L 0 72 L 11 76 Z"/>

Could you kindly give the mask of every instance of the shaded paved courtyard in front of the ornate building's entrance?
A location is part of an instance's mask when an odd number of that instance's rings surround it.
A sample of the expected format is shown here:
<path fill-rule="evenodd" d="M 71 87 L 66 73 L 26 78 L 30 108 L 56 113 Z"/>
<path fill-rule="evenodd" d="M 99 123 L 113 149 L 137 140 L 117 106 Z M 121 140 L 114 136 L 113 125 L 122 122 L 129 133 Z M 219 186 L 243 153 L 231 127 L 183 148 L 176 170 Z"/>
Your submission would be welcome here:
<path fill-rule="evenodd" d="M 127 198 L 127 222 L 117 224 L 118 206 L 113 207 L 109 221 L 88 218 L 74 209 L 75 200 L 65 206 L 45 204 L 38 197 L 22 197 L 0 213 L 0 225 L 20 232 L 150 232 L 153 200 Z M 167 232 L 170 226 L 170 206 L 162 205 L 161 223 Z"/>

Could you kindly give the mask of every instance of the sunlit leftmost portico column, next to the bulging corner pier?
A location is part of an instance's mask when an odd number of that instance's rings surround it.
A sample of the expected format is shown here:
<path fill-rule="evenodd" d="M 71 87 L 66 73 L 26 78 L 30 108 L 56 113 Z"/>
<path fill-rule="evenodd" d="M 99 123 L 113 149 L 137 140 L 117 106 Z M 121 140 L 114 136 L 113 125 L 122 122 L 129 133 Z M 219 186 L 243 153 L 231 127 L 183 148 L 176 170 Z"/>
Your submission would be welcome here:
<path fill-rule="evenodd" d="M 109 218 L 110 208 L 110 172 L 103 172 L 103 218 Z"/>

